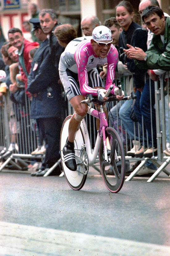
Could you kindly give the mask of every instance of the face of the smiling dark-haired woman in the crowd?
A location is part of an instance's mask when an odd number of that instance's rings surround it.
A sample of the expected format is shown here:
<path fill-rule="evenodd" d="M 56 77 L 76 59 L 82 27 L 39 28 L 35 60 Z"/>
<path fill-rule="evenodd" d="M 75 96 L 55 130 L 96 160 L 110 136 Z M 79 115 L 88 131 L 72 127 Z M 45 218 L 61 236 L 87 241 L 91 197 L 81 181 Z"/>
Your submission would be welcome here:
<path fill-rule="evenodd" d="M 134 12 L 130 14 L 124 6 L 118 6 L 116 8 L 117 22 L 119 23 L 119 26 L 121 26 L 125 31 L 128 30 L 130 24 L 132 23 L 133 17 Z"/>

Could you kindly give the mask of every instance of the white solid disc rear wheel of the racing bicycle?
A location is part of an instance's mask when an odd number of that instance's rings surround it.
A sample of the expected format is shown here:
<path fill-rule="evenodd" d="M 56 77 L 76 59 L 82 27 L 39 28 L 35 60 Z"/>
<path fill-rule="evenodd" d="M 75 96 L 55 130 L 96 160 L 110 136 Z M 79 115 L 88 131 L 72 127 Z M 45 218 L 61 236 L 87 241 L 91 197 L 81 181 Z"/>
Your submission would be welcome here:
<path fill-rule="evenodd" d="M 61 134 L 60 134 L 60 154 L 61 154 L 61 159 L 62 159 L 61 163 L 62 163 L 62 169 L 64 172 L 64 176 L 65 176 L 66 181 L 69 184 L 69 186 L 73 190 L 80 190 L 84 186 L 84 183 L 87 178 L 87 174 L 84 175 L 79 172 L 80 166 L 77 167 L 77 171 L 69 170 L 64 163 L 64 156 L 62 153 L 62 149 L 63 149 L 64 145 L 66 144 L 66 139 L 68 137 L 68 126 L 69 126 L 69 121 L 70 121 L 71 117 L 72 116 L 70 115 L 70 116 L 66 117 L 66 119 L 64 120 L 63 125 L 62 125 Z M 75 141 L 74 141 L 75 155 L 78 155 L 78 156 L 80 155 L 79 153 L 80 153 L 80 150 L 81 150 L 81 147 L 83 144 L 85 144 L 85 140 L 84 140 L 82 129 L 80 127 L 76 133 Z M 78 160 L 76 160 L 76 162 L 78 162 Z"/>

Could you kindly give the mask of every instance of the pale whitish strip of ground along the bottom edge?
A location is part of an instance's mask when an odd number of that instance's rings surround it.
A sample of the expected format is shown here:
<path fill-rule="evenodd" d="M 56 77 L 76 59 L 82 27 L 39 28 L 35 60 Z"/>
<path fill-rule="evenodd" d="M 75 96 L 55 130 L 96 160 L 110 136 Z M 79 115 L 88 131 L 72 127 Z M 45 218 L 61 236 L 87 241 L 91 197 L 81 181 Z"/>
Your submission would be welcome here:
<path fill-rule="evenodd" d="M 0 222 L 0 256 L 168 256 L 169 246 Z"/>

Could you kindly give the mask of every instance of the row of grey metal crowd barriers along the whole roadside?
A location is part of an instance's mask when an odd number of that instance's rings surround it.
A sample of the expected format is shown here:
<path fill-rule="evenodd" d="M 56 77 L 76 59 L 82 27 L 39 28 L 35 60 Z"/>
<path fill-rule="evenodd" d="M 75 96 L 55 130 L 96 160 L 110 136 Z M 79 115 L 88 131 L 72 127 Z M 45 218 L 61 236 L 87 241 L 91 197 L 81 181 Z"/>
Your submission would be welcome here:
<path fill-rule="evenodd" d="M 124 88 L 123 90 L 126 92 L 127 95 L 133 90 L 133 79 L 130 79 L 128 75 L 124 75 L 122 77 L 117 78 L 116 83 L 121 80 Z M 170 143 L 170 107 L 169 107 L 169 80 L 166 82 L 166 91 L 164 86 L 164 77 L 161 77 L 160 82 L 155 82 L 155 112 L 156 112 L 156 127 L 152 127 L 152 134 L 153 129 L 156 129 L 157 133 L 157 156 L 152 156 L 151 158 L 136 158 L 136 157 L 129 157 L 125 156 L 127 162 L 135 162 L 141 161 L 138 167 L 130 174 L 130 176 L 126 179 L 126 181 L 130 181 L 141 168 L 147 163 L 147 161 L 151 161 L 155 166 L 157 166 L 157 170 L 151 176 L 147 182 L 153 181 L 160 172 L 164 171 L 168 176 L 170 173 L 166 170 L 166 166 L 170 163 L 170 157 L 166 156 L 163 151 L 166 149 L 166 144 Z M 150 84 L 151 86 L 151 84 Z M 165 95 L 165 92 L 167 95 Z M 65 97 L 65 101 L 68 104 L 68 108 L 66 109 L 66 116 L 69 114 L 73 114 L 74 110 L 71 107 L 70 103 L 66 99 L 66 95 L 63 92 L 63 97 Z M 28 164 L 31 161 L 42 161 L 42 156 L 32 156 L 31 152 L 33 152 L 37 148 L 38 140 L 36 134 L 36 122 L 29 118 L 30 113 L 30 106 L 31 101 L 25 95 L 25 103 L 22 104 L 12 104 L 11 100 L 9 99 L 9 92 L 3 96 L 4 107 L 0 107 L 0 146 L 1 148 L 9 147 L 11 140 L 15 143 L 15 152 L 7 159 L 5 162 L 2 163 L 0 166 L 0 171 L 6 167 L 8 164 L 13 165 L 17 169 L 23 169 L 23 167 L 27 168 Z M 111 103 L 112 105 L 108 105 L 111 109 L 115 103 Z M 117 104 L 117 103 L 116 103 Z M 118 121 L 119 112 L 117 109 L 116 112 L 116 119 L 114 119 L 114 124 L 117 123 L 117 131 L 120 134 L 125 151 L 127 152 L 129 148 L 133 147 L 132 140 L 127 133 L 127 130 L 123 129 L 122 121 Z M 93 148 L 96 142 L 96 120 L 94 117 L 86 116 L 86 122 L 88 126 L 89 136 L 91 139 L 91 146 Z M 120 122 L 120 124 L 119 124 Z M 109 121 L 109 125 L 113 126 L 111 122 L 111 117 Z M 135 123 L 134 123 L 135 127 Z M 143 131 L 143 124 L 140 127 L 139 123 L 137 125 L 138 133 L 142 129 Z M 143 133 L 142 133 L 143 134 Z M 134 137 L 136 140 L 136 134 L 134 129 Z M 153 137 L 152 137 L 153 139 Z M 143 139 L 144 141 L 144 139 Z M 147 142 L 148 143 L 148 142 Z M 153 142 L 152 142 L 153 145 Z M 0 157 L 1 161 L 1 157 Z M 58 164 L 58 163 L 56 163 Z M 49 175 L 49 173 L 56 167 L 50 168 L 49 172 L 45 175 Z M 99 168 L 95 167 L 97 171 L 100 171 Z"/>

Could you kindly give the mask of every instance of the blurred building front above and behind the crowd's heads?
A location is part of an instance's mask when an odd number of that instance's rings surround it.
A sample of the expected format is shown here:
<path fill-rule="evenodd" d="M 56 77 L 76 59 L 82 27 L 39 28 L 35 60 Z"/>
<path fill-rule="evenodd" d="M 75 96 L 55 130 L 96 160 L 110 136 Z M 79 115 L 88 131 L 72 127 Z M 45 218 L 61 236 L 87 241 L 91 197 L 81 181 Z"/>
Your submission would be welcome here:
<path fill-rule="evenodd" d="M 78 36 L 81 36 L 80 21 L 86 15 L 96 15 L 101 23 L 104 20 L 115 16 L 115 6 L 120 0 L 18 0 L 20 1 L 19 9 L 4 10 L 5 0 L 0 0 L 0 22 L 4 36 L 7 39 L 7 32 L 12 27 L 18 27 L 24 33 L 24 37 L 29 39 L 29 33 L 25 33 L 22 28 L 22 22 L 29 20 L 31 15 L 29 5 L 36 3 L 39 9 L 52 8 L 57 11 L 58 21 L 63 24 L 70 23 L 78 31 Z M 158 0 L 162 10 L 170 14 L 169 0 Z M 140 0 L 130 0 L 136 12 Z"/>

